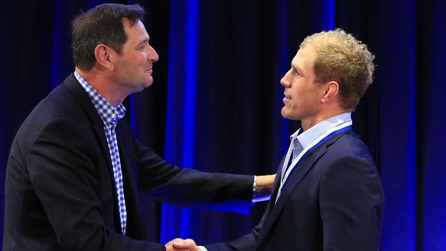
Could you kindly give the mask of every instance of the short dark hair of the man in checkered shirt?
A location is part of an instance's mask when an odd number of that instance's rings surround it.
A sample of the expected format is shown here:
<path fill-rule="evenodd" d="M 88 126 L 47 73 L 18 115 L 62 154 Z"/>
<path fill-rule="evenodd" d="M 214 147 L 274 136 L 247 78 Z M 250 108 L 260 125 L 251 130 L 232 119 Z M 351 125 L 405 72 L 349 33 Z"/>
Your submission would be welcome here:
<path fill-rule="evenodd" d="M 91 70 L 96 64 L 97 45 L 107 45 L 121 53 L 128 39 L 122 19 L 129 19 L 134 25 L 144 15 L 144 9 L 138 4 L 104 3 L 76 16 L 71 23 L 74 65 L 84 71 Z"/>

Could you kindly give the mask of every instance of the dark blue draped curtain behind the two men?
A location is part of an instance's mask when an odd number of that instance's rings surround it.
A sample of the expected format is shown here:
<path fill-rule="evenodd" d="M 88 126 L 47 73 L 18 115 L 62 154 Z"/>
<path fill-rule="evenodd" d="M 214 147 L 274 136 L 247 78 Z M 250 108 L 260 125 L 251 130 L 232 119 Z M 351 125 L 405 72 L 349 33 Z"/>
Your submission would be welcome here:
<path fill-rule="evenodd" d="M 73 71 L 71 19 L 103 2 L 3 3 L 1 187 L 16 130 Z M 382 176 L 382 250 L 446 250 L 445 1 L 113 2 L 145 6 L 145 26 L 160 55 L 154 85 L 125 101 L 134 133 L 171 163 L 202 171 L 274 172 L 298 128 L 280 116 L 279 80 L 299 43 L 333 27 L 360 38 L 377 67 L 354 127 Z M 143 193 L 139 198 L 150 239 L 162 242 L 229 241 L 249 232 L 265 206 L 256 204 L 246 215 L 176 208 Z"/>

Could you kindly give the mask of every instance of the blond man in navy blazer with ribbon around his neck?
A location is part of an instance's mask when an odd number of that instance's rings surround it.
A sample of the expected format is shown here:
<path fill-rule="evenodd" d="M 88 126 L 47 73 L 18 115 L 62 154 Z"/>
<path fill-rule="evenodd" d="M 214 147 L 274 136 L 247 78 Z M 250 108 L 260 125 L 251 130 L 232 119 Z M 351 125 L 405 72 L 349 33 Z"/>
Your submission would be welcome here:
<path fill-rule="evenodd" d="M 342 29 L 305 38 L 281 80 L 281 114 L 300 120 L 260 223 L 230 243 L 189 250 L 379 250 L 384 193 L 351 112 L 373 80 L 373 54 Z"/>

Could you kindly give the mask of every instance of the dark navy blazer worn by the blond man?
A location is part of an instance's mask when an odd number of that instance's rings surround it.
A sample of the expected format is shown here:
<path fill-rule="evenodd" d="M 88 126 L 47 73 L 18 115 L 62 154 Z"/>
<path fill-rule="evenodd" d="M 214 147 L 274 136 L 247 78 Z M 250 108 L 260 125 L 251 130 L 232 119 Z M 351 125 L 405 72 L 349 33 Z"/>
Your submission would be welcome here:
<path fill-rule="evenodd" d="M 214 250 L 379 250 L 384 194 L 367 147 L 347 130 L 303 160 L 276 200 L 274 191 L 260 223 Z"/>

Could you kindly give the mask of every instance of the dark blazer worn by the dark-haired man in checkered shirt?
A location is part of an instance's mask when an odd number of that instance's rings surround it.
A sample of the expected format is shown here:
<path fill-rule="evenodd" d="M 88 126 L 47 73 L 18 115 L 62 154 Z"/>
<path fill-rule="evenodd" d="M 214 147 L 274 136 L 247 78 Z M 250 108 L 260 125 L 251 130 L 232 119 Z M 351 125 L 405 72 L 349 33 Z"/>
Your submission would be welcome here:
<path fill-rule="evenodd" d="M 138 143 L 121 119 L 116 134 L 128 216 L 122 235 L 103 126 L 73 74 L 30 113 L 8 158 L 4 251 L 165 250 L 145 241 L 137 189 L 185 206 L 223 207 L 226 200 L 249 205 L 253 176 L 169 165 Z"/>

